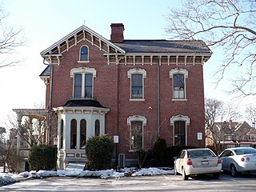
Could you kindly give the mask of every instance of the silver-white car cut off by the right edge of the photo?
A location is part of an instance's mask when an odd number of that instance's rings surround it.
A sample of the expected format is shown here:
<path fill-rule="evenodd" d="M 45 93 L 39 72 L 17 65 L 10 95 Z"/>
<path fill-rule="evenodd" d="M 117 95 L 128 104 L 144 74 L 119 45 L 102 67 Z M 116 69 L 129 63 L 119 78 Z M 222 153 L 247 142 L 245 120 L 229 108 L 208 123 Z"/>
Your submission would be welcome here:
<path fill-rule="evenodd" d="M 222 170 L 230 171 L 233 177 L 240 173 L 256 172 L 256 149 L 252 147 L 234 147 L 223 150 Z"/>

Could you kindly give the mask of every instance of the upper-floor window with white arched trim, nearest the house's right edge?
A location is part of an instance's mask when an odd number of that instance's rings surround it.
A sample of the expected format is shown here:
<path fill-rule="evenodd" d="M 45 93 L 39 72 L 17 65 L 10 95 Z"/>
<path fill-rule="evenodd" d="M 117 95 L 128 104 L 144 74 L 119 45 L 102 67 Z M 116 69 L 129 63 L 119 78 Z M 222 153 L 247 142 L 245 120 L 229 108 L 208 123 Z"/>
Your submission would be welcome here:
<path fill-rule="evenodd" d="M 173 99 L 186 99 L 186 78 L 188 71 L 176 68 L 170 70 L 170 78 L 172 78 L 173 85 Z"/>

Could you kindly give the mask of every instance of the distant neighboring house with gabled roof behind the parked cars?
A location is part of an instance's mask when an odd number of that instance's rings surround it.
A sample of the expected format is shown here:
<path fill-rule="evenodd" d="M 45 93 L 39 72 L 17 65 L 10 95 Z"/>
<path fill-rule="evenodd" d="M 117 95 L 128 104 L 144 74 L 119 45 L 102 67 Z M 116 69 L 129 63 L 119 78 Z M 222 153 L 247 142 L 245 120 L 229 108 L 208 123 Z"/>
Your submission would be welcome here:
<path fill-rule="evenodd" d="M 214 131 L 206 130 L 206 146 L 214 146 L 213 138 L 222 149 L 234 146 L 256 146 L 256 129 L 246 121 L 215 122 Z"/>

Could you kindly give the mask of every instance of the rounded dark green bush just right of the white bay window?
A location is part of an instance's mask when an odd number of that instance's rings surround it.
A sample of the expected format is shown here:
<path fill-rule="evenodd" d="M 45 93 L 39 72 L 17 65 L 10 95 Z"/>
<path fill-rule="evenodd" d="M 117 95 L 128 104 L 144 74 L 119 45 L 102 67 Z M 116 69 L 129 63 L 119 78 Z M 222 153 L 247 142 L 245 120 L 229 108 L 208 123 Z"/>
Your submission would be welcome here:
<path fill-rule="evenodd" d="M 94 136 L 86 142 L 87 168 L 90 170 L 106 170 L 111 166 L 114 142 L 106 134 Z"/>

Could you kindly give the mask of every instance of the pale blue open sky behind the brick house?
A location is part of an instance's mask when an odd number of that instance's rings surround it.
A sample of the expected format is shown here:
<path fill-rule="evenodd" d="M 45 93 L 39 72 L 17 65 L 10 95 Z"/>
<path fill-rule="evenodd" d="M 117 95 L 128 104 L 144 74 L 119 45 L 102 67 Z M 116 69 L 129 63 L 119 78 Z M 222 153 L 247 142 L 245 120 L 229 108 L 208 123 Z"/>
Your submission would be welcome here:
<path fill-rule="evenodd" d="M 1 2 L 1 0 L 0 0 Z M 34 108 L 44 104 L 44 82 L 38 75 L 46 66 L 42 63 L 40 52 L 59 39 L 86 25 L 91 30 L 110 38 L 110 24 L 122 22 L 126 39 L 167 39 L 164 28 L 165 15 L 169 7 L 179 5 L 180 0 L 2 0 L 9 14 L 7 25 L 22 28 L 26 46 L 11 55 L 12 58 L 25 59 L 14 67 L 0 70 L 0 126 L 6 126 L 7 115 L 11 109 Z M 225 92 L 229 85 L 222 82 L 217 89 L 210 83 L 212 74 L 220 65 L 221 50 L 213 50 L 213 57 L 204 66 L 206 97 L 229 101 Z M 248 103 L 248 101 L 247 101 Z M 246 106 L 245 102 L 241 103 Z"/>

